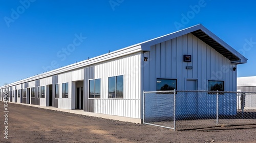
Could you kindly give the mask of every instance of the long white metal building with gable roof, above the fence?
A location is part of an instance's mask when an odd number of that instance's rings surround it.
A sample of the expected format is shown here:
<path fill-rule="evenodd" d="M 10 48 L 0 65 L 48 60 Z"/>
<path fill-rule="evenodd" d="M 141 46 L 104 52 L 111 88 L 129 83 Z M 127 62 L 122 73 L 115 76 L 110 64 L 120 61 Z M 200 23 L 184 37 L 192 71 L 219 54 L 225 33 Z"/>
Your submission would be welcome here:
<path fill-rule="evenodd" d="M 141 123 L 143 90 L 210 90 L 219 84 L 219 90 L 236 91 L 237 64 L 246 62 L 196 25 L 8 84 L 9 101 Z"/>

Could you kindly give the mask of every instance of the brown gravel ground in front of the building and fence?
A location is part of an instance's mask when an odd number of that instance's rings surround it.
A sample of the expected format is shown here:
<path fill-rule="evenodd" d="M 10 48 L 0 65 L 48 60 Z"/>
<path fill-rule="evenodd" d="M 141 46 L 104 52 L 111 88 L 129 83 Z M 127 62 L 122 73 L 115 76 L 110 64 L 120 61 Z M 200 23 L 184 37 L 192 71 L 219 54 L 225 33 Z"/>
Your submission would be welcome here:
<path fill-rule="evenodd" d="M 173 131 L 13 103 L 8 111 L 8 139 L 2 115 L 0 142 L 256 142 L 256 123 Z"/>

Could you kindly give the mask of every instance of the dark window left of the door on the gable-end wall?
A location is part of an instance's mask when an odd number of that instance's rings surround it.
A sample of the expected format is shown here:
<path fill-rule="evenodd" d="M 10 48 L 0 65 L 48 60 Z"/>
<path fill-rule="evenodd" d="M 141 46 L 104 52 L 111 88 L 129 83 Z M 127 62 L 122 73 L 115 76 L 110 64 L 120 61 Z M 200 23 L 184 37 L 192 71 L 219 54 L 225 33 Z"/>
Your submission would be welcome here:
<path fill-rule="evenodd" d="M 157 79 L 157 91 L 177 89 L 176 79 Z"/>

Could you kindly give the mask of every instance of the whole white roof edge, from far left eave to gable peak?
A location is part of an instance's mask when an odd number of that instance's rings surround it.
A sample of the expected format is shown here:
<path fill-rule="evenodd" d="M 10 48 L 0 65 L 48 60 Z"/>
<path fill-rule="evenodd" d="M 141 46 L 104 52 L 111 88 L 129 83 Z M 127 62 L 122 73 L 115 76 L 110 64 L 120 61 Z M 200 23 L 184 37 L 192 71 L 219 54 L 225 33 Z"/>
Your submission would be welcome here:
<path fill-rule="evenodd" d="M 90 66 L 92 64 L 102 62 L 102 61 L 111 60 L 114 58 L 122 57 L 124 55 L 129 55 L 129 54 L 133 54 L 133 53 L 140 52 L 140 51 L 150 51 L 150 46 L 152 46 L 152 45 L 155 45 L 155 44 L 158 44 L 158 43 L 161 43 L 161 42 L 173 39 L 173 38 L 177 38 L 179 36 L 182 36 L 182 35 L 185 35 L 188 33 L 192 33 L 193 35 L 195 35 L 196 37 L 201 39 L 203 42 L 210 45 L 217 52 L 219 52 L 220 54 L 222 54 L 223 56 L 228 58 L 231 61 L 231 64 L 242 64 L 242 63 L 247 62 L 247 59 L 244 56 L 242 56 L 240 53 L 238 53 L 236 50 L 234 50 L 231 46 L 229 46 L 227 43 L 225 43 L 223 40 L 221 40 L 215 34 L 211 33 L 204 26 L 199 24 L 199 25 L 189 27 L 189 28 L 186 28 L 183 30 L 179 30 L 177 32 L 173 32 L 173 33 L 161 36 L 161 37 L 157 37 L 157 38 L 154 38 L 151 40 L 147 40 L 147 41 L 144 41 L 141 43 L 127 46 L 123 49 L 120 49 L 120 50 L 117 50 L 114 52 L 110 52 L 107 54 L 103 54 L 103 55 L 100 55 L 100 56 L 97 56 L 97 57 L 94 57 L 94 58 L 91 58 L 88 60 L 83 60 L 83 61 L 80 61 L 80 62 L 77 62 L 74 64 L 70 64 L 67 66 L 63 66 L 63 67 L 60 67 L 60 68 L 57 68 L 57 69 L 54 69 L 51 71 L 46 71 L 45 73 L 11 83 L 11 84 L 9 84 L 9 86 L 23 84 L 26 82 L 58 75 L 60 73 L 65 73 L 67 71 L 83 68 L 86 66 Z M 4 86 L 2 86 L 0 88 L 4 88 Z"/>

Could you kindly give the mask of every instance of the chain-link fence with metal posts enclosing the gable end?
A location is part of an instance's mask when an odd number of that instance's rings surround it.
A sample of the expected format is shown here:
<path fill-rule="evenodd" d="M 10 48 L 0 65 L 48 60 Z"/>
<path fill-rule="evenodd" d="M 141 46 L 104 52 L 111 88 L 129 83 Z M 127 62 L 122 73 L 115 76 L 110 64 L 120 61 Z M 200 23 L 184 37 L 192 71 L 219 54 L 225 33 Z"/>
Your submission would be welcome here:
<path fill-rule="evenodd" d="M 256 92 L 144 92 L 143 111 L 144 124 L 174 130 L 256 124 Z"/>

